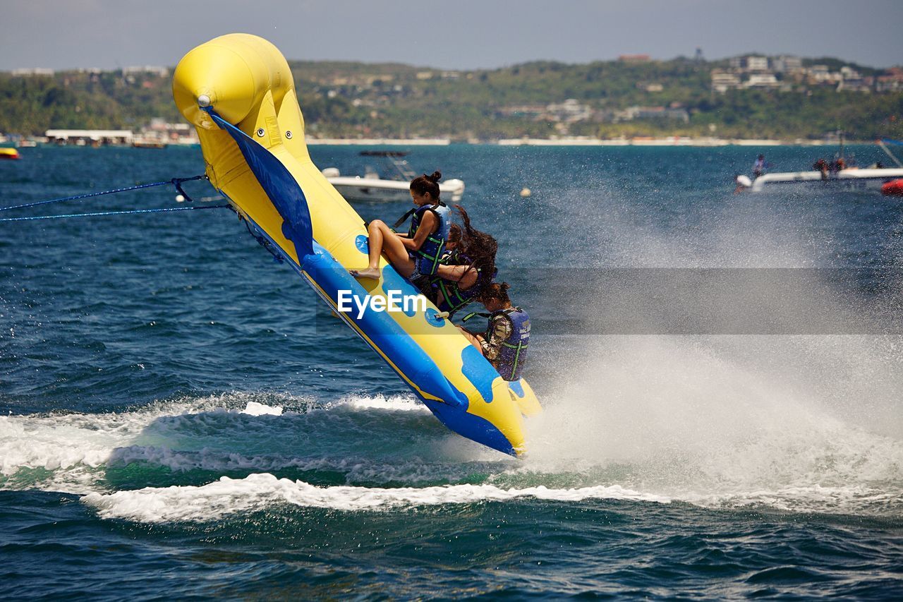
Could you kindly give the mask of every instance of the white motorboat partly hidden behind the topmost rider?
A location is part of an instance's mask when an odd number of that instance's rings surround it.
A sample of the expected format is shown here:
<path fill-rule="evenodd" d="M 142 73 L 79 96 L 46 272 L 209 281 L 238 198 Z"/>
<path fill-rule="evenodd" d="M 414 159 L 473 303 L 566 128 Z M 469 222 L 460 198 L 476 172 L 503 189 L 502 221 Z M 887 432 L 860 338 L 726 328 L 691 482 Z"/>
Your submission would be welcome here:
<path fill-rule="evenodd" d="M 337 167 L 327 167 L 322 174 L 348 201 L 410 201 L 411 180 L 417 174 L 405 160 L 404 151 L 361 151 L 361 156 L 377 157 L 388 166 L 386 177 L 368 165 L 364 175 L 342 175 Z M 464 182 L 458 179 L 439 183 L 439 192 L 452 202 L 460 202 L 464 195 Z"/>

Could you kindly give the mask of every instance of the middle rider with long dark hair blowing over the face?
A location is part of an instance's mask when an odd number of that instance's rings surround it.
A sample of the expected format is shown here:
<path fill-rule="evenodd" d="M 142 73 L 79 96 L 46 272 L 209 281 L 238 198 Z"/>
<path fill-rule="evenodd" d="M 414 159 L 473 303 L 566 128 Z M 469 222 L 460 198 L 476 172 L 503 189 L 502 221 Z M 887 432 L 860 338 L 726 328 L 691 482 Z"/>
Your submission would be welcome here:
<path fill-rule="evenodd" d="M 449 251 L 442 257 L 427 294 L 439 311 L 447 312 L 449 317 L 469 305 L 495 277 L 498 251 L 498 242 L 474 228 L 463 207 L 456 205 L 454 209 L 461 216 L 464 228 L 452 224 L 446 245 Z"/>

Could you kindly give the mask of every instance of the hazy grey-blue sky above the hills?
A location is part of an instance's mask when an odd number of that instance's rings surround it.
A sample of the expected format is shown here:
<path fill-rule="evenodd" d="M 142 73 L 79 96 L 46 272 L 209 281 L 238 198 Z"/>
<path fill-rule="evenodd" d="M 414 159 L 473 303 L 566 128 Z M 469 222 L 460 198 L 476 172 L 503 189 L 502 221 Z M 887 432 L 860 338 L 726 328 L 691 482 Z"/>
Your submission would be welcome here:
<path fill-rule="evenodd" d="M 174 66 L 223 33 L 288 59 L 447 69 L 746 52 L 903 64 L 903 0 L 0 0 L 0 70 Z"/>

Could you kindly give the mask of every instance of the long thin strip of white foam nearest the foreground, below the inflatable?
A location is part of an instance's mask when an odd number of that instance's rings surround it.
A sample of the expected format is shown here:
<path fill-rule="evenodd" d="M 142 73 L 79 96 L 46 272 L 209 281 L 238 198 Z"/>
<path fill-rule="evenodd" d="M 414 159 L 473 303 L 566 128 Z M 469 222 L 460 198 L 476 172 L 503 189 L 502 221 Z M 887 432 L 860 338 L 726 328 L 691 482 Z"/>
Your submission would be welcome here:
<path fill-rule="evenodd" d="M 551 489 L 543 485 L 501 489 L 490 484 L 457 484 L 438 487 L 333 486 L 317 487 L 303 481 L 277 479 L 274 475 L 226 476 L 200 486 L 147 487 L 114 494 L 88 494 L 82 501 L 105 518 L 142 522 L 210 521 L 231 513 L 263 510 L 275 504 L 329 508 L 340 511 L 374 511 L 412 506 L 456 503 L 507 502 L 532 497 L 539 500 L 579 502 L 616 499 L 668 503 L 666 497 L 640 494 L 619 485 Z"/>

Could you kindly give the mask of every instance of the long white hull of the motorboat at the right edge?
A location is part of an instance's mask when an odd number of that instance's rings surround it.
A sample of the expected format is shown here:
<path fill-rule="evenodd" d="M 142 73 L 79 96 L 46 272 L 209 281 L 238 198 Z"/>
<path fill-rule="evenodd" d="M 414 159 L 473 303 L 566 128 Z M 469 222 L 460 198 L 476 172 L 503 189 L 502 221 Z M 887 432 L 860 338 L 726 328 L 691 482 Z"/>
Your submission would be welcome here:
<path fill-rule="evenodd" d="M 737 185 L 738 189 L 749 190 L 753 193 L 783 190 L 793 184 L 802 184 L 810 189 L 819 189 L 821 187 L 880 192 L 881 186 L 898 178 L 903 178 L 903 168 L 858 169 L 850 167 L 833 173 L 810 170 L 807 172 L 763 174 L 759 175 L 755 180 L 750 179 L 747 175 L 738 175 Z"/>

